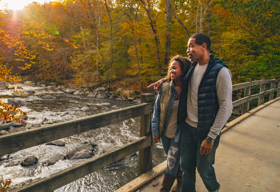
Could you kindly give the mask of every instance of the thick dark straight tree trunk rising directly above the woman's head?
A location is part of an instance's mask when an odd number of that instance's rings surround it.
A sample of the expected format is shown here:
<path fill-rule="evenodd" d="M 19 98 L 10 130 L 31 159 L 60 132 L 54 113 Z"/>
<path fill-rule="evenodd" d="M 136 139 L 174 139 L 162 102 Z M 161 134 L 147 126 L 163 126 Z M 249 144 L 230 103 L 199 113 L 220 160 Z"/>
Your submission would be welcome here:
<path fill-rule="evenodd" d="M 166 10 L 166 37 L 165 37 L 165 57 L 164 64 L 167 65 L 170 59 L 170 45 L 171 45 L 171 4 L 169 0 L 165 1 Z"/>

